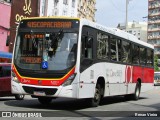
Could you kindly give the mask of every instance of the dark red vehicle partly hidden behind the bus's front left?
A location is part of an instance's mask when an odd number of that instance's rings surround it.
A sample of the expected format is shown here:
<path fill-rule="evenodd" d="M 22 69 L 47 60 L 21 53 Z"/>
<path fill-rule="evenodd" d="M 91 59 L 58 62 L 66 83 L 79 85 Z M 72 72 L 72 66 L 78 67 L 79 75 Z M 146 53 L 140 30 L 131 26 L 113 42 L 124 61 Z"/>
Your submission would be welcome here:
<path fill-rule="evenodd" d="M 0 97 L 15 96 L 17 100 L 23 100 L 24 95 L 11 93 L 11 64 L 0 63 Z"/>

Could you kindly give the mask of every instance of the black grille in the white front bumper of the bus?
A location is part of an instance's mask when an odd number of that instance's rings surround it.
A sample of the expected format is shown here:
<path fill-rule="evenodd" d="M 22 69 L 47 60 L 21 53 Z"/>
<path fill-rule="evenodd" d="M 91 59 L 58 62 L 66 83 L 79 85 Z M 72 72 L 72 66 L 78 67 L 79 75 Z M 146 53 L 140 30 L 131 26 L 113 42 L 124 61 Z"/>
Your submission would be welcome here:
<path fill-rule="evenodd" d="M 54 95 L 57 92 L 57 88 L 35 88 L 23 86 L 23 89 L 26 93 L 34 94 L 34 91 L 43 91 L 46 95 Z"/>

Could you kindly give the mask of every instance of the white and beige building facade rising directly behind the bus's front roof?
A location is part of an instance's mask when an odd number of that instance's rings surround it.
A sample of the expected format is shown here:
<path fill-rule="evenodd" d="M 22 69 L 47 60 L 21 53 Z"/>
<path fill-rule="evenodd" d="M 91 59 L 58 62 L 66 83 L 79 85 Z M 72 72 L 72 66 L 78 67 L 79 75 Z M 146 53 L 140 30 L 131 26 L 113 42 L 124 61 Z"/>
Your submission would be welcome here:
<path fill-rule="evenodd" d="M 95 21 L 96 0 L 41 0 L 40 16 L 70 16 Z"/>

